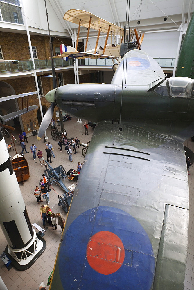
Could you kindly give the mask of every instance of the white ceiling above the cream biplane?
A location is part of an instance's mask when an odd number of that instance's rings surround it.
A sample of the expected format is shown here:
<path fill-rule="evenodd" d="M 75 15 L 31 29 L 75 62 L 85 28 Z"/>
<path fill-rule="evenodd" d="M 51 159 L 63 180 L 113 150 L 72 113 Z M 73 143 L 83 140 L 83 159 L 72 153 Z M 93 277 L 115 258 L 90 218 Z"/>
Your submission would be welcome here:
<path fill-rule="evenodd" d="M 126 19 L 127 1 L 119 0 L 49 0 L 55 13 L 61 17 L 67 10 L 76 8 L 89 11 L 109 22 L 123 26 Z M 154 4 L 153 4 L 153 3 Z M 188 13 L 190 0 L 186 0 L 185 13 Z M 165 14 L 170 16 L 178 25 L 181 24 L 183 0 L 130 0 L 131 26 L 137 26 L 140 20 L 139 30 L 177 28 L 175 23 L 167 17 L 164 22 Z M 191 0 L 194 10 L 194 0 Z M 115 6 L 114 6 L 115 5 Z M 57 6 L 57 8 L 56 8 Z M 116 9 L 114 8 L 116 7 Z M 162 10 L 162 11 L 161 11 Z M 186 16 L 187 17 L 187 16 Z M 67 21 L 66 21 L 67 22 Z M 66 23 L 71 28 L 77 28 L 72 23 Z M 154 28 L 155 26 L 155 28 Z M 142 29 L 143 28 L 143 29 Z"/>

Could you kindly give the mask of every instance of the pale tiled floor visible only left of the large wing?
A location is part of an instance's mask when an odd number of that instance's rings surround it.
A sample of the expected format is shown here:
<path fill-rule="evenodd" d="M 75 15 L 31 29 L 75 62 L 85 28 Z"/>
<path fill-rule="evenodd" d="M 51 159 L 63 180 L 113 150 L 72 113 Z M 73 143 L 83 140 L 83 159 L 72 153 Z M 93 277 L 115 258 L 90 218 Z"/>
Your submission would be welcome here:
<path fill-rule="evenodd" d="M 82 120 L 82 123 L 78 123 L 76 118 L 73 118 L 71 122 L 66 121 L 64 122 L 65 129 L 67 130 L 68 137 L 78 137 L 81 142 L 87 143 L 90 141 L 91 136 L 93 134 L 93 128 L 88 128 L 89 135 L 85 135 L 83 124 L 85 120 Z M 58 127 L 60 129 L 60 127 Z M 52 158 L 53 163 L 51 164 L 52 167 L 57 167 L 60 164 L 62 164 L 67 171 L 69 169 L 77 168 L 78 162 L 83 162 L 84 157 L 82 155 L 82 149 L 84 147 L 79 148 L 77 154 L 73 154 L 73 162 L 70 162 L 68 160 L 68 155 L 66 151 L 64 150 L 63 146 L 63 152 L 60 152 L 60 147 L 58 146 L 58 139 L 54 141 L 51 137 L 51 129 L 48 128 L 46 131 L 49 139 L 47 142 L 50 142 L 54 148 L 54 154 L 55 158 Z M 17 138 L 17 134 L 14 134 L 14 136 Z M 6 143 L 10 144 L 11 140 L 6 139 Z M 36 136 L 31 136 L 28 138 L 28 143 L 26 143 L 26 149 L 29 151 L 28 154 L 24 155 L 28 161 L 29 167 L 30 167 L 30 178 L 24 182 L 24 185 L 21 183 L 19 184 L 24 202 L 26 204 L 26 208 L 28 211 L 28 215 L 30 217 L 31 223 L 37 223 L 40 226 L 42 226 L 42 221 L 40 217 L 40 206 L 37 205 L 37 200 L 34 196 L 34 189 L 35 186 L 39 184 L 39 179 L 42 177 L 42 174 L 44 173 L 45 167 L 41 167 L 38 159 L 33 159 L 33 155 L 30 151 L 31 144 L 35 144 L 37 146 L 37 149 L 40 149 L 43 152 L 43 157 L 46 158 L 46 145 L 48 144 L 43 143 L 44 140 L 37 141 Z M 16 149 L 18 153 L 21 153 L 21 146 L 20 143 L 16 143 Z M 73 151 L 74 152 L 74 151 Z M 25 153 L 25 151 L 24 151 Z M 13 157 L 15 155 L 15 152 L 13 150 L 9 149 L 9 154 Z M 71 182 L 70 180 L 65 180 L 66 187 L 70 186 L 72 183 L 76 184 L 75 182 Z M 61 195 L 63 192 L 62 189 L 56 185 L 52 184 L 53 189 Z M 52 209 L 53 213 L 61 213 L 66 218 L 66 215 L 64 214 L 64 211 L 61 206 L 58 206 L 58 196 L 57 194 L 52 190 L 50 193 L 50 208 Z M 44 204 L 41 203 L 41 204 Z M 48 224 L 46 224 L 48 226 Z M 12 268 L 10 271 L 8 271 L 2 262 L 0 260 L 0 276 L 3 279 L 3 282 L 6 284 L 6 287 L 9 290 L 37 290 L 39 284 L 43 281 L 45 284 L 48 280 L 48 277 L 53 270 L 55 258 L 60 242 L 60 234 L 61 228 L 58 226 L 56 231 L 53 231 L 53 227 L 48 226 L 48 229 L 46 229 L 46 233 L 44 235 L 44 239 L 46 240 L 46 250 L 40 256 L 40 258 L 33 264 L 31 268 L 29 268 L 26 271 L 18 271 L 15 268 Z M 37 232 L 37 230 L 36 230 Z M 7 246 L 6 239 L 0 229 L 0 254 L 4 251 L 5 247 Z M 48 289 L 48 287 L 47 287 Z"/>

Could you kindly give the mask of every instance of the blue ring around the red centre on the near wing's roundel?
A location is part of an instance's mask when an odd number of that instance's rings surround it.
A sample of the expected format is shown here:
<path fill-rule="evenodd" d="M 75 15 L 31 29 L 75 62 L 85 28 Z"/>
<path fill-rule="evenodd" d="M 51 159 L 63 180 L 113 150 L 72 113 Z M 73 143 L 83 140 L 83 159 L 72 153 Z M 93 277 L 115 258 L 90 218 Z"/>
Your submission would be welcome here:
<path fill-rule="evenodd" d="M 90 238 L 100 231 L 117 235 L 125 248 L 123 264 L 109 275 L 96 272 L 86 258 Z M 150 239 L 134 217 L 117 208 L 101 206 L 79 215 L 65 233 L 58 255 L 64 289 L 149 290 L 152 286 L 155 257 Z"/>

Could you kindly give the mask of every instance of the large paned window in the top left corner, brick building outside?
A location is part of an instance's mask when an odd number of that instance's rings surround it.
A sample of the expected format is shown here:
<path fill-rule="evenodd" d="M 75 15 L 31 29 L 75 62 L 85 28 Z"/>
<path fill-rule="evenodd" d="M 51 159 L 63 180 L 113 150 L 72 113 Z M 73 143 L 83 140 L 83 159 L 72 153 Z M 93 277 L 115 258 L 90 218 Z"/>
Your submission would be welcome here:
<path fill-rule="evenodd" d="M 4 2 L 9 2 L 9 4 Z M 0 10 L 1 10 L 1 21 L 24 24 L 19 1 L 17 0 L 3 1 L 1 2 Z"/>

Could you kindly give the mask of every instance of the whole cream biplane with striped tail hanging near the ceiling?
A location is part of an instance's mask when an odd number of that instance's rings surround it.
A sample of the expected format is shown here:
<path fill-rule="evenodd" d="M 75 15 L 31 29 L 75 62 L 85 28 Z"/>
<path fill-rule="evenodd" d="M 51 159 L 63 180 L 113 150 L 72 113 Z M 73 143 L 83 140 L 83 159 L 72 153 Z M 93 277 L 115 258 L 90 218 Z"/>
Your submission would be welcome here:
<path fill-rule="evenodd" d="M 129 51 L 130 49 L 134 49 L 134 48 L 139 49 L 143 41 L 143 37 L 144 37 L 144 34 L 142 34 L 141 32 L 139 32 L 140 35 L 138 36 L 138 32 L 136 29 L 134 30 L 128 29 L 127 30 L 128 41 L 126 44 L 124 44 L 125 38 L 126 38 L 126 33 L 125 33 L 124 28 L 117 26 L 113 23 L 110 23 L 84 10 L 70 9 L 65 13 L 63 19 L 69 22 L 72 22 L 74 24 L 78 24 L 76 48 L 73 48 L 71 46 L 66 47 L 64 44 L 62 44 L 60 46 L 61 56 L 54 56 L 53 58 L 63 57 L 65 60 L 67 60 L 68 58 L 79 58 L 79 59 L 119 58 L 120 56 L 123 56 L 124 49 L 125 49 L 125 53 Z M 77 51 L 78 40 L 79 40 L 79 35 L 80 35 L 80 26 L 87 28 L 85 52 Z M 90 29 L 98 31 L 98 36 L 97 36 L 95 48 L 92 50 L 87 50 Z M 100 32 L 103 33 L 104 35 L 106 34 L 105 43 L 103 47 L 98 46 Z M 107 44 L 109 36 L 110 36 L 111 44 Z M 119 43 L 116 44 L 116 43 L 113 43 L 113 39 L 114 39 L 114 42 L 116 42 L 117 36 L 119 37 Z M 126 48 L 124 48 L 125 45 L 126 45 Z M 118 60 L 118 63 L 119 62 L 120 60 Z"/>

